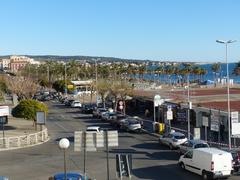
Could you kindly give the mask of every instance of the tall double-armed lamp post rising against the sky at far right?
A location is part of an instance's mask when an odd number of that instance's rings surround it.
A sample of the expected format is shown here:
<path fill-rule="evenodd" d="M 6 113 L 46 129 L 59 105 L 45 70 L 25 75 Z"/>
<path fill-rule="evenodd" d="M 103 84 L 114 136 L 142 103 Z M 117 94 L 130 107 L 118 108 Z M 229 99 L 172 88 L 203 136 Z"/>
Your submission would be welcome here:
<path fill-rule="evenodd" d="M 226 65 L 227 65 L 227 109 L 228 109 L 228 144 L 229 144 L 229 149 L 232 147 L 232 142 L 231 142 L 231 119 L 230 119 L 230 96 L 229 96 L 229 72 L 228 72 L 228 59 L 227 59 L 227 50 L 228 50 L 228 44 L 236 42 L 236 40 L 228 40 L 228 41 L 223 41 L 223 40 L 216 40 L 217 43 L 225 44 L 226 46 Z"/>

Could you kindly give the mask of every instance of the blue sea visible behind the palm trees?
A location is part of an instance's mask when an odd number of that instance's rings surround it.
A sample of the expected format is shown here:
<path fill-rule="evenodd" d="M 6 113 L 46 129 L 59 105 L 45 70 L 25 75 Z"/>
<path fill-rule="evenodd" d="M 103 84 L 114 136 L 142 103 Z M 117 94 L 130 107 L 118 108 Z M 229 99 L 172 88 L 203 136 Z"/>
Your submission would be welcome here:
<path fill-rule="evenodd" d="M 197 66 L 207 70 L 207 74 L 203 75 L 201 77 L 201 82 L 207 82 L 208 84 L 213 84 L 216 78 L 216 81 L 223 82 L 223 80 L 226 81 L 227 78 L 227 65 L 226 63 L 220 64 L 220 71 L 215 74 L 215 72 L 212 71 L 212 64 L 198 64 Z M 156 66 L 155 66 L 156 67 Z M 233 70 L 236 67 L 236 63 L 228 63 L 228 74 L 229 74 L 229 80 L 230 82 L 233 82 L 235 84 L 240 84 L 240 75 L 236 76 L 233 74 Z M 148 67 L 149 69 L 154 67 Z M 145 74 L 144 79 L 146 80 L 152 80 L 152 81 L 160 81 L 169 83 L 169 80 L 171 83 L 177 83 L 179 79 L 183 77 L 179 77 L 177 75 L 171 75 L 170 77 L 168 75 L 154 75 L 154 74 Z M 190 75 L 189 80 L 192 81 L 196 79 L 196 76 Z"/>

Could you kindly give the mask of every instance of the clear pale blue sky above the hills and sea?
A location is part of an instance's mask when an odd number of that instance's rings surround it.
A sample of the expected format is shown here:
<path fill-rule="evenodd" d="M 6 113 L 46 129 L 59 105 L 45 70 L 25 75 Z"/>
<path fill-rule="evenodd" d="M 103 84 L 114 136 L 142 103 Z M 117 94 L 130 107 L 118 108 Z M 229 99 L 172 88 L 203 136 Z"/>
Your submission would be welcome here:
<path fill-rule="evenodd" d="M 239 0 L 1 0 L 0 55 L 89 55 L 224 61 L 216 39 L 236 39 Z"/>

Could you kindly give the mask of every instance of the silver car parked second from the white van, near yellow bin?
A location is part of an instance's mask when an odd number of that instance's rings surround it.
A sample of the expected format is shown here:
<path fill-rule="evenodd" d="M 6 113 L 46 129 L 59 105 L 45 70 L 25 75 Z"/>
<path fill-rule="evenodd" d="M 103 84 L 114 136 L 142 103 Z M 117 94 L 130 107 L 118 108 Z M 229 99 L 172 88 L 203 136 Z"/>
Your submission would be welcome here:
<path fill-rule="evenodd" d="M 180 144 L 187 141 L 186 136 L 183 133 L 175 132 L 171 130 L 169 133 L 160 135 L 159 143 L 167 145 L 170 149 L 176 149 Z"/>

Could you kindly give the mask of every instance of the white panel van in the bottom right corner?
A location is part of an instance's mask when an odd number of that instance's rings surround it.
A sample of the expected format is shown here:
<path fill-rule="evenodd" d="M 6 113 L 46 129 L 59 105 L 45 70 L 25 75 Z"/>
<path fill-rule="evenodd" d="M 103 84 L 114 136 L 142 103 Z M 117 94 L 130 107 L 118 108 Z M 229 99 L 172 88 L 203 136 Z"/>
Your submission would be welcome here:
<path fill-rule="evenodd" d="M 203 179 L 227 178 L 232 171 L 232 155 L 216 148 L 198 148 L 182 155 L 179 165 Z"/>

